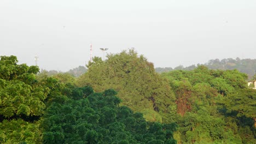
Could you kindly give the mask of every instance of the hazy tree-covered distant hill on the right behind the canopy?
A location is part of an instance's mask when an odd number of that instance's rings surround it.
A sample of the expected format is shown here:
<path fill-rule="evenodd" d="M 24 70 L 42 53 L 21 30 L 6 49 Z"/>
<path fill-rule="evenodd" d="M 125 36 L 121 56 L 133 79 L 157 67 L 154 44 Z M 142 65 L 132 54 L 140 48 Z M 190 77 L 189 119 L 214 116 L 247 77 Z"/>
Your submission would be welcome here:
<path fill-rule="evenodd" d="M 252 79 L 253 75 L 256 74 L 256 59 L 232 59 L 232 58 L 225 58 L 221 61 L 219 59 L 211 59 L 205 64 L 197 64 L 198 65 L 205 65 L 209 69 L 220 69 L 220 70 L 232 70 L 237 69 L 241 73 L 245 73 L 248 75 L 248 79 Z M 193 70 L 197 67 L 196 65 L 190 65 L 189 67 L 183 67 L 179 65 L 176 68 L 155 68 L 156 72 L 164 73 L 167 71 L 172 70 Z"/>

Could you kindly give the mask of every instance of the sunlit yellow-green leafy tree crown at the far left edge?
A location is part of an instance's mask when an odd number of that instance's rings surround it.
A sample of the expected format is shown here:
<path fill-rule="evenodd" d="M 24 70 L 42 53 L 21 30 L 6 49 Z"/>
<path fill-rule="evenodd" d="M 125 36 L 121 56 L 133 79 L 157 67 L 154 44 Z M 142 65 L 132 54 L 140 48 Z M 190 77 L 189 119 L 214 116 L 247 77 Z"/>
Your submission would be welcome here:
<path fill-rule="evenodd" d="M 0 60 L 0 115 L 5 118 L 40 116 L 45 104 L 43 100 L 49 88 L 43 87 L 36 80 L 39 68 L 17 64 L 15 56 L 1 56 Z"/>

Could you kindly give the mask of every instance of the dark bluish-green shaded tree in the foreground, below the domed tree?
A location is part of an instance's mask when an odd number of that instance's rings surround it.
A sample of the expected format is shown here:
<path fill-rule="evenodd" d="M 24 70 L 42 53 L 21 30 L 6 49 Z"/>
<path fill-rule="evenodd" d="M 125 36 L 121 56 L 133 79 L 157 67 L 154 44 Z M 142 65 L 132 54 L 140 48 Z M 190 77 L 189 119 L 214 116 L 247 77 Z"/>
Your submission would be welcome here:
<path fill-rule="evenodd" d="M 146 122 L 141 113 L 119 106 L 115 91 L 78 90 L 76 100 L 63 98 L 46 110 L 44 143 L 176 143 L 176 124 Z"/>

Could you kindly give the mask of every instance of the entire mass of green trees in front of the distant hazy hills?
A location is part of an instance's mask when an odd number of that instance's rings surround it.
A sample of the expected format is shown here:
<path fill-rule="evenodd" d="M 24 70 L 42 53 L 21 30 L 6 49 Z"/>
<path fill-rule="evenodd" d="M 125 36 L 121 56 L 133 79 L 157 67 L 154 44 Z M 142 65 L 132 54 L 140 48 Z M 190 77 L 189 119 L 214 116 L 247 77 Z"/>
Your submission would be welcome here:
<path fill-rule="evenodd" d="M 156 73 L 133 49 L 79 76 L 0 60 L 0 143 L 255 143 L 256 90 L 238 70 Z"/>

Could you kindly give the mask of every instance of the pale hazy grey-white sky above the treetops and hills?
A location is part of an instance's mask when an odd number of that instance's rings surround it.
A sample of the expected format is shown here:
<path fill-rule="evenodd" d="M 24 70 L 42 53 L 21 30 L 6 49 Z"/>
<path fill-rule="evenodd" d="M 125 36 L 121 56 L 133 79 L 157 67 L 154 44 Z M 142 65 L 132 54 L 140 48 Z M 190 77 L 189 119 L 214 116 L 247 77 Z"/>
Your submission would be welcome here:
<path fill-rule="evenodd" d="M 255 0 L 1 0 L 0 55 L 67 71 L 135 47 L 155 67 L 256 58 Z"/>

